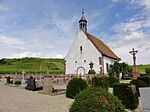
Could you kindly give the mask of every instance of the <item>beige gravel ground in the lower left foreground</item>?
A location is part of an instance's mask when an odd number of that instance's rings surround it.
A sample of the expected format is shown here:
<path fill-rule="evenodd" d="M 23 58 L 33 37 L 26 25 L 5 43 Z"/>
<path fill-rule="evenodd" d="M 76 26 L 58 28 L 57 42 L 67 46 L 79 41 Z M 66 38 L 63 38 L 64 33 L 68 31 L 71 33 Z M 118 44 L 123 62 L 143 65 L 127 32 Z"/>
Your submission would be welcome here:
<path fill-rule="evenodd" d="M 73 102 L 65 94 L 43 95 L 4 85 L 5 82 L 3 79 L 0 81 L 0 112 L 68 112 Z"/>

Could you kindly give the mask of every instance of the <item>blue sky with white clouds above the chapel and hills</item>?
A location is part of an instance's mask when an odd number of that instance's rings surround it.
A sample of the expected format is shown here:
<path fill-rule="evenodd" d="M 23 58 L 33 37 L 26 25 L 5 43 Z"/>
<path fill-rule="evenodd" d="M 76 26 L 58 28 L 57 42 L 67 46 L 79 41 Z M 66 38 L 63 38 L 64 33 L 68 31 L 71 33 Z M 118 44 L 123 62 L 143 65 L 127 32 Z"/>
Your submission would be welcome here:
<path fill-rule="evenodd" d="M 0 0 L 1 58 L 64 58 L 79 30 L 87 31 L 121 62 L 150 64 L 150 0 Z"/>

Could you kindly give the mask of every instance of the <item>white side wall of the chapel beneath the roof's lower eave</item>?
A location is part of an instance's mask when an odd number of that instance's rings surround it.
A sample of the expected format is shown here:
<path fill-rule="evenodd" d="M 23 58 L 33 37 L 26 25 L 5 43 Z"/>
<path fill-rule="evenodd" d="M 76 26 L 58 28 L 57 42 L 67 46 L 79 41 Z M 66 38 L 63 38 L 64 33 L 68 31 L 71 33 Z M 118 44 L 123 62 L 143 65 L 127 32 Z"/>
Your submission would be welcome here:
<path fill-rule="evenodd" d="M 109 65 L 113 65 L 116 60 L 108 58 L 106 56 L 103 56 L 103 60 L 104 60 L 104 74 L 108 74 L 106 63 L 108 63 Z"/>

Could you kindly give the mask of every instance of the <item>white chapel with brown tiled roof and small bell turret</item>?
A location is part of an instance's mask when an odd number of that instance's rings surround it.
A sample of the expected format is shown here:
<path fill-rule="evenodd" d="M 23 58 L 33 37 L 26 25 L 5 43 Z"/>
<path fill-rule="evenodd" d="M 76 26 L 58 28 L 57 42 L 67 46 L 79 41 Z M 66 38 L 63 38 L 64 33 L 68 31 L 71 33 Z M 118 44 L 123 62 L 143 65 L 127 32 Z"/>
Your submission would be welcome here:
<path fill-rule="evenodd" d="M 87 20 L 82 12 L 79 31 L 65 57 L 65 74 L 88 74 L 90 63 L 96 74 L 108 75 L 110 65 L 119 57 L 101 40 L 87 32 Z"/>

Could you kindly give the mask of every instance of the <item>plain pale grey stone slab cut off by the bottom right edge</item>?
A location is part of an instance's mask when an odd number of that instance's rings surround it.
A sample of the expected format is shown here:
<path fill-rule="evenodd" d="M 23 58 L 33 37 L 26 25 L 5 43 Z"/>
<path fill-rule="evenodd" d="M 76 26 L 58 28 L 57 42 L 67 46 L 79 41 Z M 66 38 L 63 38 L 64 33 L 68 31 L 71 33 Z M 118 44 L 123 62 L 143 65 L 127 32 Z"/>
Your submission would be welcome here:
<path fill-rule="evenodd" d="M 141 112 L 150 112 L 150 87 L 139 88 L 142 110 Z"/>

